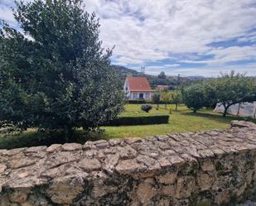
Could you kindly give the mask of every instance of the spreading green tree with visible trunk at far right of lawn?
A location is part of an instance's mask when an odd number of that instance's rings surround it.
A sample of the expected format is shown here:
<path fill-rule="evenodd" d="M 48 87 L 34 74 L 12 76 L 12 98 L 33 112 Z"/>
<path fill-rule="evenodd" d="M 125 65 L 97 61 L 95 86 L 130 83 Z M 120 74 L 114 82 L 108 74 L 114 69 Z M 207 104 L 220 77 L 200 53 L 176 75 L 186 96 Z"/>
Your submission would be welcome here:
<path fill-rule="evenodd" d="M 230 106 L 256 100 L 254 79 L 246 77 L 245 74 L 235 74 L 234 71 L 221 74 L 219 78 L 210 81 L 210 87 L 213 101 L 224 107 L 224 117 Z"/>

